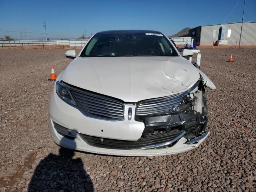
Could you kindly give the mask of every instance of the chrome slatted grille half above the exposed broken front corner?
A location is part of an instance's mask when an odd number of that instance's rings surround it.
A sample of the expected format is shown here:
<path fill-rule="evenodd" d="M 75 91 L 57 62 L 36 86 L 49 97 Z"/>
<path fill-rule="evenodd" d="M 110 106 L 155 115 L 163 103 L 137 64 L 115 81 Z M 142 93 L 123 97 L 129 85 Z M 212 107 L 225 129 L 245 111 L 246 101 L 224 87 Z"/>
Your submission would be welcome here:
<path fill-rule="evenodd" d="M 186 92 L 176 94 L 173 96 L 141 101 L 136 106 L 135 116 L 158 115 L 158 114 L 170 113 L 173 111 L 175 106 L 180 105 L 180 102 L 182 102 L 184 96 L 186 94 L 189 94 L 197 86 L 198 86 L 198 83 L 194 84 L 194 86 L 192 86 Z"/>

